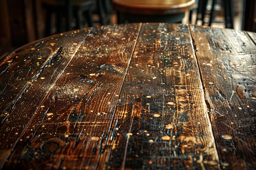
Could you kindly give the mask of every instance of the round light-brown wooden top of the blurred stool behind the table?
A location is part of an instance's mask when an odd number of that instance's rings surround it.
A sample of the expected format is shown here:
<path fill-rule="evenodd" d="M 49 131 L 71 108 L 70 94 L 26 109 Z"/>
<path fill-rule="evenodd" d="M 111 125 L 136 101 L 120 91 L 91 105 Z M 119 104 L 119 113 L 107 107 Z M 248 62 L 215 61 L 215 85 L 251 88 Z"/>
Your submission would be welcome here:
<path fill-rule="evenodd" d="M 195 0 L 113 0 L 115 10 L 141 15 L 184 13 L 193 8 Z"/>

